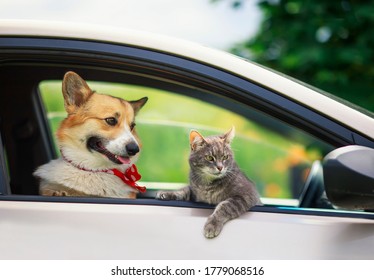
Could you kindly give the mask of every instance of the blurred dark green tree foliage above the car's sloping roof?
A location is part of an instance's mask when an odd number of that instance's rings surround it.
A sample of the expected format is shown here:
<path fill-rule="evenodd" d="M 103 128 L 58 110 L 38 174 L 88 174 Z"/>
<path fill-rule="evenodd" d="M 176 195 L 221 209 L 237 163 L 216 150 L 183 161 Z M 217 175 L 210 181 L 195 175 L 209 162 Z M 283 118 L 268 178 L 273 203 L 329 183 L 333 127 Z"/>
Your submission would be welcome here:
<path fill-rule="evenodd" d="M 246 3 L 212 1 L 237 9 Z M 259 0 L 258 6 L 258 33 L 231 52 L 374 111 L 373 0 Z"/>

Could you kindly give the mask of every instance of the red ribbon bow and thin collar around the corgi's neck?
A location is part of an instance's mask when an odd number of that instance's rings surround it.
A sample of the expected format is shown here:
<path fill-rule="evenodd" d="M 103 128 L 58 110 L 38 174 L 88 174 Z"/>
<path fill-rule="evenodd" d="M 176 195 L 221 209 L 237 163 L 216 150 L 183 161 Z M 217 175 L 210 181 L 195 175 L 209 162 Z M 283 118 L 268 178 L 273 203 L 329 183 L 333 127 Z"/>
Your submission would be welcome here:
<path fill-rule="evenodd" d="M 119 171 L 116 168 L 113 168 L 113 169 L 103 169 L 103 170 L 90 170 L 90 169 L 87 169 L 87 168 L 84 168 L 84 167 L 81 167 L 79 165 L 74 164 L 71 160 L 67 159 L 62 154 L 62 152 L 61 152 L 61 155 L 62 155 L 62 158 L 65 161 L 67 161 L 68 163 L 70 163 L 71 165 L 73 165 L 74 167 L 76 167 L 76 168 L 78 168 L 80 170 L 89 171 L 89 172 L 104 172 L 104 173 L 112 174 L 112 175 L 115 175 L 118 178 L 120 178 L 122 180 L 122 182 L 124 182 L 126 185 L 128 185 L 128 186 L 130 186 L 130 187 L 132 187 L 134 189 L 137 189 L 141 193 L 145 193 L 147 191 L 146 187 L 139 186 L 136 183 L 136 181 L 140 180 L 140 178 L 142 176 L 138 173 L 138 169 L 136 168 L 135 164 L 131 165 L 124 173 L 122 173 L 121 171 Z"/>

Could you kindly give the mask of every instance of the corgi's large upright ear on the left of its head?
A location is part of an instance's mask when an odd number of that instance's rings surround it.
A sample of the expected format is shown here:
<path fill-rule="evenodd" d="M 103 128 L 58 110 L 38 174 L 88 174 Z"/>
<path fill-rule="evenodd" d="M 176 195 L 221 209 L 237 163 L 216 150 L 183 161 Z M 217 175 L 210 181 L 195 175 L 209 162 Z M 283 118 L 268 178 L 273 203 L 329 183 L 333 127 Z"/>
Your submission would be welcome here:
<path fill-rule="evenodd" d="M 67 72 L 62 81 L 65 110 L 68 114 L 86 103 L 93 94 L 85 80 L 74 72 Z"/>

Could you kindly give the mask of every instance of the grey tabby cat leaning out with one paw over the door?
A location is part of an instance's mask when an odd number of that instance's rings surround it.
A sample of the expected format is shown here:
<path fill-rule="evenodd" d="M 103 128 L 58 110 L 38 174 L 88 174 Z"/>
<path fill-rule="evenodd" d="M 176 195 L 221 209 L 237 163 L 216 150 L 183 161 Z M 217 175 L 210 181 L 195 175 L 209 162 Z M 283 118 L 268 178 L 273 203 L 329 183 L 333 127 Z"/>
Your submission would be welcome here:
<path fill-rule="evenodd" d="M 206 238 L 218 236 L 223 225 L 261 205 L 255 184 L 239 169 L 230 147 L 235 129 L 218 136 L 190 133 L 190 184 L 176 191 L 159 191 L 161 200 L 191 200 L 217 205 L 204 226 Z"/>

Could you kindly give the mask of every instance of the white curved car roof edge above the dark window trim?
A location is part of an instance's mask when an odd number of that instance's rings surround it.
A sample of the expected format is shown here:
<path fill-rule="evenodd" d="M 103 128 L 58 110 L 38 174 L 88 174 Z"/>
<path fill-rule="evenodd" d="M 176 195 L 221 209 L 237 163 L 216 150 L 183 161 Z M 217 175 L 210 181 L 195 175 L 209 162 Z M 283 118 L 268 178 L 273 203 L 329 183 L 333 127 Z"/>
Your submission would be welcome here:
<path fill-rule="evenodd" d="M 346 103 L 338 102 L 320 90 L 286 75 L 228 52 L 197 43 L 118 27 L 35 20 L 0 20 L 0 36 L 53 37 L 111 42 L 199 61 L 251 80 L 374 139 L 374 119 L 361 111 L 355 110 Z"/>

